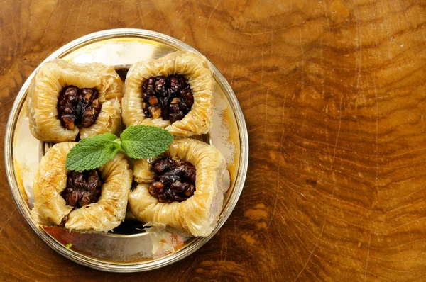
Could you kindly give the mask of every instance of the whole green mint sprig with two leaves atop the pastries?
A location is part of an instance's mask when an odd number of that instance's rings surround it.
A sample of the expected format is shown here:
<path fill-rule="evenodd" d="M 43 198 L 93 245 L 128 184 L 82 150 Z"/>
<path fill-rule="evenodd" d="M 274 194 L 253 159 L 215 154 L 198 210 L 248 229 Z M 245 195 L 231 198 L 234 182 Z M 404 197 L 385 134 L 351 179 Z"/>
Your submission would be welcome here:
<path fill-rule="evenodd" d="M 68 153 L 65 167 L 74 171 L 96 169 L 120 150 L 135 159 L 155 157 L 168 150 L 173 141 L 168 130 L 147 125 L 129 126 L 120 137 L 108 132 L 84 138 Z"/>

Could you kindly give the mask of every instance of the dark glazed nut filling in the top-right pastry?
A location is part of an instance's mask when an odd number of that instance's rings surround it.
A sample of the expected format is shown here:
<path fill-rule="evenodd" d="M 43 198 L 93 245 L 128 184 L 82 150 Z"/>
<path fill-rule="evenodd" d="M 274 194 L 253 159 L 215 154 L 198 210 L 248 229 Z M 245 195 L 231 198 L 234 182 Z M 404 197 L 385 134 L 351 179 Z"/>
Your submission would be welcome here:
<path fill-rule="evenodd" d="M 163 118 L 174 123 L 191 110 L 194 96 L 185 77 L 150 77 L 142 85 L 143 113 L 146 118 Z"/>

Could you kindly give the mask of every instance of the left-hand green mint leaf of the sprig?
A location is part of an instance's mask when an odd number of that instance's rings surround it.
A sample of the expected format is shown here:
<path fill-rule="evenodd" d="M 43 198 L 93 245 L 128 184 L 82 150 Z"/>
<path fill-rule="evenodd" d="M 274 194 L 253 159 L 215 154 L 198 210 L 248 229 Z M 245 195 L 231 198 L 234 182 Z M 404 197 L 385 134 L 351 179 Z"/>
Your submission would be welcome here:
<path fill-rule="evenodd" d="M 120 140 L 109 132 L 84 138 L 68 153 L 65 167 L 75 171 L 96 169 L 114 158 L 120 149 Z"/>

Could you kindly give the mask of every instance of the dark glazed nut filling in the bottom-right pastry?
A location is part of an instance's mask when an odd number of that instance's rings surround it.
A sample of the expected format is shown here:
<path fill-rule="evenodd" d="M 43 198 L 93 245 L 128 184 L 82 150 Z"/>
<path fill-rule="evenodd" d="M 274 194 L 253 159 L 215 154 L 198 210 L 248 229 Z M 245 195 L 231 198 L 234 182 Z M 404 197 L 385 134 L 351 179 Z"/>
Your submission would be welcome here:
<path fill-rule="evenodd" d="M 182 202 L 195 192 L 195 167 L 190 162 L 165 157 L 153 164 L 153 183 L 149 193 L 161 203 Z"/>

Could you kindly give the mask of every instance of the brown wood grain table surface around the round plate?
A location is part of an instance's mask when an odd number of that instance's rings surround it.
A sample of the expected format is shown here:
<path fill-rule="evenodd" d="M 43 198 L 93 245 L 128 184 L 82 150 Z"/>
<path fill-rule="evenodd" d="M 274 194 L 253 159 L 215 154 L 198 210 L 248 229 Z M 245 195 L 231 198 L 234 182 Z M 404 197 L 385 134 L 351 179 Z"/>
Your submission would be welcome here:
<path fill-rule="evenodd" d="M 192 45 L 231 83 L 250 138 L 239 203 L 192 256 L 104 273 L 35 235 L 0 162 L 0 280 L 426 281 L 425 0 L 0 1 L 1 140 L 45 57 L 124 27 Z"/>

